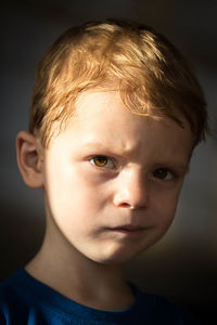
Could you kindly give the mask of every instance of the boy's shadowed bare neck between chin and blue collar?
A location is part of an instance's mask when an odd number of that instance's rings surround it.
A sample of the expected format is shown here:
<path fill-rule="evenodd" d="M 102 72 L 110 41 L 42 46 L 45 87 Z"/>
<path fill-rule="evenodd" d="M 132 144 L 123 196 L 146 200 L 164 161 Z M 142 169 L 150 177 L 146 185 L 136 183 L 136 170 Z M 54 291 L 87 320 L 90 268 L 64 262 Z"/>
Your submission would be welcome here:
<path fill-rule="evenodd" d="M 68 242 L 56 240 L 56 237 L 53 242 L 48 234 L 26 271 L 63 296 L 88 307 L 124 310 L 133 302 L 120 265 L 92 261 Z"/>

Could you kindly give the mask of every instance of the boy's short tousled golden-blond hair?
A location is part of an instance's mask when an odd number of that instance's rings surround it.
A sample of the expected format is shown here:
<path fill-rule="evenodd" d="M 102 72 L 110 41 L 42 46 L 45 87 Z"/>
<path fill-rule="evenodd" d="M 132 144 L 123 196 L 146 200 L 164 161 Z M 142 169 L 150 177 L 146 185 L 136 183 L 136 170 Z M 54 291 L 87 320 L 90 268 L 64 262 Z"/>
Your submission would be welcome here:
<path fill-rule="evenodd" d="M 129 22 L 91 22 L 66 30 L 43 55 L 36 74 L 29 131 L 42 145 L 74 115 L 80 92 L 117 90 L 135 114 L 184 117 L 205 138 L 207 116 L 201 87 L 179 51 L 152 28 Z M 54 127 L 55 126 L 55 127 Z"/>

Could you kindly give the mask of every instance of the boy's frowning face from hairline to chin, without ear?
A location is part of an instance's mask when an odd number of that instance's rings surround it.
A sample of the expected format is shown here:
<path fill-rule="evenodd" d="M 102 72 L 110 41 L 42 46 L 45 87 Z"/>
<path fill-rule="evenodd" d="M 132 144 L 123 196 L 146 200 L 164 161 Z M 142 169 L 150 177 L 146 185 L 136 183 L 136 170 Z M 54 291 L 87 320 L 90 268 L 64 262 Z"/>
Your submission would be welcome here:
<path fill-rule="evenodd" d="M 187 123 L 131 114 L 114 91 L 81 94 L 43 153 L 48 233 L 97 262 L 127 261 L 170 225 L 192 146 Z"/>

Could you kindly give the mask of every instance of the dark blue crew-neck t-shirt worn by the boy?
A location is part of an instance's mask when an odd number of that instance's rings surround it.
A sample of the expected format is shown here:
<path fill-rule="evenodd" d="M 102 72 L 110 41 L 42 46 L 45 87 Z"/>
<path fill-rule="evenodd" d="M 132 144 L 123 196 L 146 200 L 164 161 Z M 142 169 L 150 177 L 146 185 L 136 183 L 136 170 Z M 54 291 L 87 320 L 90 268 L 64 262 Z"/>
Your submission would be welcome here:
<path fill-rule="evenodd" d="M 184 311 L 165 298 L 132 286 L 135 303 L 123 311 L 79 304 L 29 275 L 23 268 L 0 285 L 1 325 L 193 325 Z"/>

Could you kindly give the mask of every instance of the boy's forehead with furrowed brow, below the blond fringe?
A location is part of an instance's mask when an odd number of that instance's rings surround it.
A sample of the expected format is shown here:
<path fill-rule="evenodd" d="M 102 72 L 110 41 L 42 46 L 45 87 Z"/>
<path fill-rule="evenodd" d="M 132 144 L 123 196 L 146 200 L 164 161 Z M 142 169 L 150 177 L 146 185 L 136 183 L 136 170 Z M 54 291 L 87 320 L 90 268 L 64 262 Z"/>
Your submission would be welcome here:
<path fill-rule="evenodd" d="M 190 156 L 193 135 L 189 125 L 181 128 L 174 120 L 154 120 L 132 114 L 120 101 L 117 91 L 85 92 L 76 102 L 76 114 L 60 135 L 79 147 L 113 150 L 125 154 Z"/>

